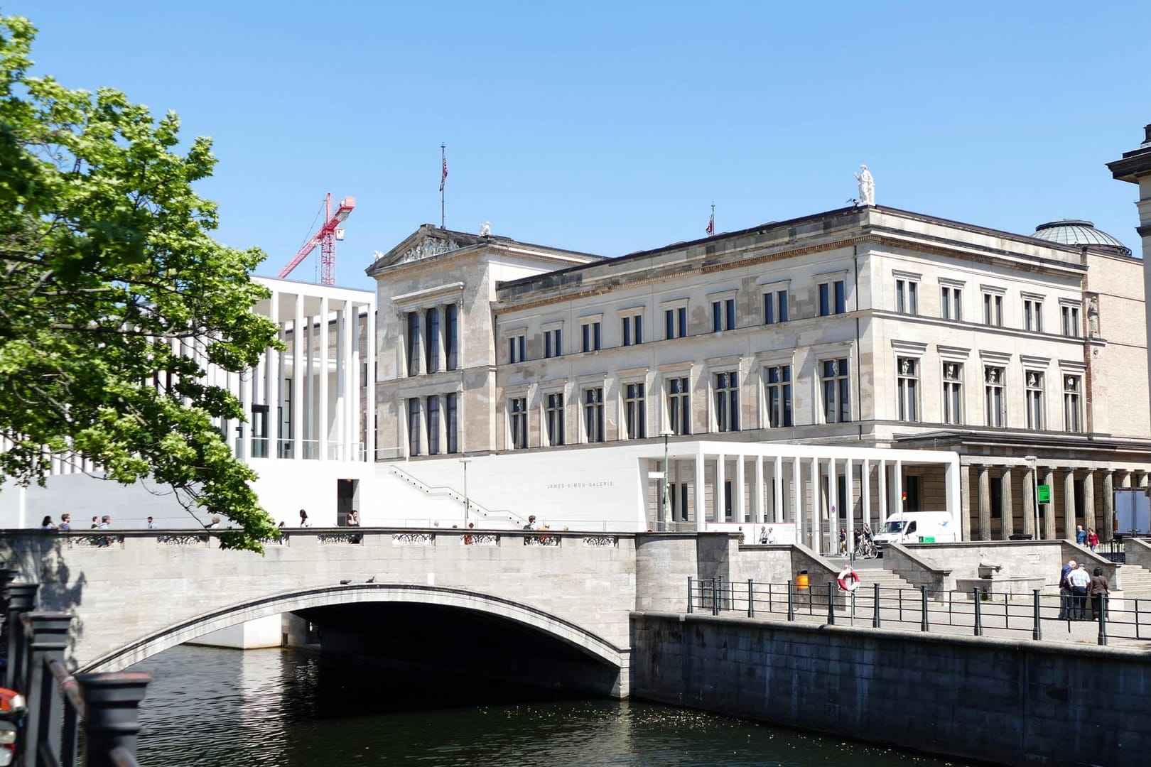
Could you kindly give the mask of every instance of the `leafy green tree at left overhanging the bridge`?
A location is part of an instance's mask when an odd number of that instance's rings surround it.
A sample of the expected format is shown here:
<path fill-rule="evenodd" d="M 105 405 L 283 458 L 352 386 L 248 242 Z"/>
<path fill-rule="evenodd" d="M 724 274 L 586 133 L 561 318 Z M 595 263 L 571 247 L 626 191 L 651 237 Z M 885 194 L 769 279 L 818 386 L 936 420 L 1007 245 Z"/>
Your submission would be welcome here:
<path fill-rule="evenodd" d="M 215 164 L 207 138 L 180 153 L 175 114 L 29 76 L 35 34 L 0 21 L 0 478 L 44 484 L 48 452 L 83 457 L 231 519 L 222 545 L 262 551 L 276 528 L 213 420 L 243 408 L 204 366 L 282 347 L 250 312 L 268 296 L 250 278 L 264 254 L 208 236 L 215 205 L 192 191 Z"/>

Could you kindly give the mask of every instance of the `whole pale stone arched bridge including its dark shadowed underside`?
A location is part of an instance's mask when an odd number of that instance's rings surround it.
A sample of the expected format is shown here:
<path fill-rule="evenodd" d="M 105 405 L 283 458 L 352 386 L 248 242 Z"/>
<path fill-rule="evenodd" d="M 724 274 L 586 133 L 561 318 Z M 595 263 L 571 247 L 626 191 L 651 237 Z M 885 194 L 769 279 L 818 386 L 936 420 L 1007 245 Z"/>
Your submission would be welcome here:
<path fill-rule="evenodd" d="M 109 532 L 0 537 L 16 581 L 40 584 L 37 609 L 76 614 L 79 670 L 290 613 L 321 627 L 325 652 L 512 677 L 546 659 L 548 684 L 616 696 L 628 692 L 631 612 L 683 611 L 700 547 L 718 560 L 738 549 L 715 534 L 335 528 L 285 530 L 260 557 L 221 550 L 209 531 Z"/>

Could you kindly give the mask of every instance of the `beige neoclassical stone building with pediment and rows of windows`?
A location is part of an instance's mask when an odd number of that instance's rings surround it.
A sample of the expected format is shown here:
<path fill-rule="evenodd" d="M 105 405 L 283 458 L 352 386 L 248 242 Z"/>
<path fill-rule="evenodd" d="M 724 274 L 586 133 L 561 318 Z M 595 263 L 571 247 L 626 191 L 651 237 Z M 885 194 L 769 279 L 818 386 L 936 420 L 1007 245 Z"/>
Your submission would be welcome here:
<path fill-rule="evenodd" d="M 1088 222 L 1022 236 L 859 206 L 613 259 L 425 225 L 368 274 L 380 460 L 726 442 L 706 473 L 673 460 L 669 499 L 649 483 L 653 527 L 786 520 L 820 486 L 826 535 L 884 493 L 940 507 L 945 469 L 809 480 L 740 443 L 954 451 L 984 539 L 1035 532 L 1037 485 L 1039 535 L 1073 537 L 1148 484 L 1141 263 Z"/>

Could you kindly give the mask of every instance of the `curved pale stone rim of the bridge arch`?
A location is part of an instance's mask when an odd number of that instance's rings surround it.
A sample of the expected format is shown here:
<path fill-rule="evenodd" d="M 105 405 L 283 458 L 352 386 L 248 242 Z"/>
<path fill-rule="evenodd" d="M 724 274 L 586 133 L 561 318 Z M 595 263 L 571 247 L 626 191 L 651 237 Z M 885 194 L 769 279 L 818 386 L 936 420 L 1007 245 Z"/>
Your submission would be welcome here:
<path fill-rule="evenodd" d="M 409 603 L 477 611 L 535 629 L 610 666 L 622 675 L 630 651 L 546 611 L 489 593 L 434 585 L 357 583 L 284 591 L 239 601 L 134 639 L 84 665 L 81 672 L 117 672 L 158 652 L 244 621 L 310 607 L 363 603 Z"/>

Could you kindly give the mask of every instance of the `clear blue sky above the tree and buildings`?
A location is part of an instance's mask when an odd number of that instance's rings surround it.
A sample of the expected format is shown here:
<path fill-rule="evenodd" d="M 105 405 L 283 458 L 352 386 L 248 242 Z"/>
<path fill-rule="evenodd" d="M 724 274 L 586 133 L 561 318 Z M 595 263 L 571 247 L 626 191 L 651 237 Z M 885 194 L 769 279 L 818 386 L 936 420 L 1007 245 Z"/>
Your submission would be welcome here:
<path fill-rule="evenodd" d="M 22 0 L 37 74 L 113 86 L 220 160 L 218 238 L 274 275 L 355 195 L 337 283 L 440 222 L 602 255 L 876 201 L 1138 252 L 1105 162 L 1151 123 L 1143 2 Z M 315 279 L 317 255 L 294 273 Z"/>

